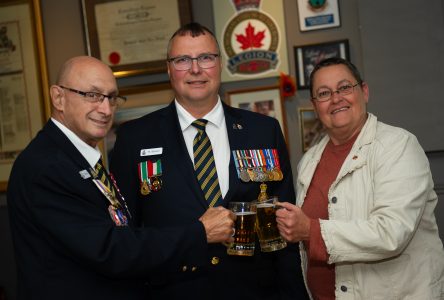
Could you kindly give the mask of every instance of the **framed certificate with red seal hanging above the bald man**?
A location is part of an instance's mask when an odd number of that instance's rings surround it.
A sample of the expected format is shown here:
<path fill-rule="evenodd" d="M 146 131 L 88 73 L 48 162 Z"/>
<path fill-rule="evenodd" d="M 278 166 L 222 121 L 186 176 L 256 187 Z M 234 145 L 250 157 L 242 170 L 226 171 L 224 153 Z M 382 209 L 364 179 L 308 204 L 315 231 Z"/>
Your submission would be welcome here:
<path fill-rule="evenodd" d="M 82 0 L 82 9 L 88 54 L 116 77 L 166 72 L 168 41 L 191 21 L 189 0 Z"/>

